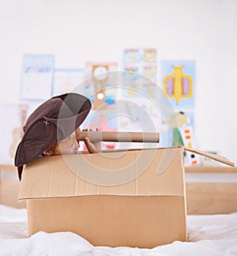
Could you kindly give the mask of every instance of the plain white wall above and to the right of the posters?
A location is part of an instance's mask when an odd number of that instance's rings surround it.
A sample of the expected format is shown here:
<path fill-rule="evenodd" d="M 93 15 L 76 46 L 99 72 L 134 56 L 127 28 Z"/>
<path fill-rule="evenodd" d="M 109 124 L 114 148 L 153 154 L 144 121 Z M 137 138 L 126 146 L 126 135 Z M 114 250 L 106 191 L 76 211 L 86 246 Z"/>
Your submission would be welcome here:
<path fill-rule="evenodd" d="M 161 60 L 196 61 L 196 145 L 237 163 L 236 13 L 235 0 L 1 0 L 0 103 L 20 99 L 24 54 L 53 54 L 57 68 L 122 69 L 122 49 L 155 47 L 158 73 Z"/>

